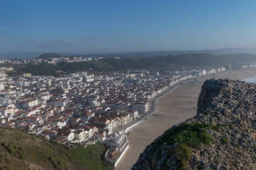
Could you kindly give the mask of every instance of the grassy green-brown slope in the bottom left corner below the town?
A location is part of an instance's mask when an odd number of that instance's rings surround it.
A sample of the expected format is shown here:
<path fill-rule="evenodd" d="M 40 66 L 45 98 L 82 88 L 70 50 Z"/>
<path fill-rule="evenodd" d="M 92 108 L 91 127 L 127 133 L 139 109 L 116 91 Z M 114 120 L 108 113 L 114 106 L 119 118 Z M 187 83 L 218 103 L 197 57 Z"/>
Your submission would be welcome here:
<path fill-rule="evenodd" d="M 0 126 L 1 170 L 112 170 L 101 160 L 102 144 L 76 147 L 50 143 L 23 130 Z M 103 157 L 104 158 L 104 157 Z"/>

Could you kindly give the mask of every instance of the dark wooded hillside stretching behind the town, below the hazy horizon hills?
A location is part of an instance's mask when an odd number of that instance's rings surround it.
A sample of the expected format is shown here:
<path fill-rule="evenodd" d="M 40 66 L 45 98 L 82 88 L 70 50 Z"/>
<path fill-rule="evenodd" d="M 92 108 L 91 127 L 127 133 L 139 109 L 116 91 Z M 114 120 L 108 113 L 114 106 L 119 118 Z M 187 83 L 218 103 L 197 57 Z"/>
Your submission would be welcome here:
<path fill-rule="evenodd" d="M 58 55 L 58 54 L 56 54 Z M 49 55 L 48 55 L 49 56 Z M 84 62 L 58 62 L 55 64 L 41 63 L 39 65 L 28 64 L 27 67 L 17 68 L 18 65 L 8 65 L 24 73 L 35 76 L 54 76 L 57 70 L 67 73 L 78 71 L 110 72 L 132 70 L 171 70 L 196 67 L 220 67 L 226 64 L 236 64 L 256 61 L 256 54 L 178 54 L 165 57 L 131 57 L 131 58 L 105 58 Z M 4 66 L 4 65 L 3 65 Z M 6 66 L 6 65 L 5 65 Z"/>

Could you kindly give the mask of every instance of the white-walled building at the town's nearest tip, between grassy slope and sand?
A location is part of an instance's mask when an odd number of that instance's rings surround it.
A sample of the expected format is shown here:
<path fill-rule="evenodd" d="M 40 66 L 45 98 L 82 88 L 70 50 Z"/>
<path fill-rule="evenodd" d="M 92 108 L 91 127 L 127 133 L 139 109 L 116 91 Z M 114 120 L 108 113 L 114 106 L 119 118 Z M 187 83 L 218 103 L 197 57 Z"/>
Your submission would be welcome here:
<path fill-rule="evenodd" d="M 129 148 L 128 139 L 124 131 L 115 132 L 102 142 L 102 144 L 110 147 L 105 154 L 105 160 L 111 162 L 115 167 Z"/>

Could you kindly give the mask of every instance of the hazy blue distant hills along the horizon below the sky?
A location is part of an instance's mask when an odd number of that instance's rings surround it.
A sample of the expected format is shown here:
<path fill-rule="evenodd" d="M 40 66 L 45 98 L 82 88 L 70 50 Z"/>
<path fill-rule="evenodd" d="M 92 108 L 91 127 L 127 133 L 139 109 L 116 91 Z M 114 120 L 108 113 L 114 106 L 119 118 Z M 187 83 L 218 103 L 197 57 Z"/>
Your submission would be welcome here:
<path fill-rule="evenodd" d="M 46 51 L 47 52 L 47 51 Z M 28 59 L 37 58 L 45 52 L 11 52 L 11 53 L 0 53 L 0 59 Z M 236 54 L 236 53 L 250 53 L 256 54 L 256 48 L 221 48 L 221 49 L 210 49 L 210 50 L 188 50 L 188 51 L 145 51 L 145 52 L 110 52 L 110 53 L 91 53 L 91 52 L 55 52 L 64 56 L 76 56 L 76 57 L 154 57 L 154 56 L 167 56 L 177 54 L 197 54 L 197 53 L 208 53 L 208 54 Z"/>

